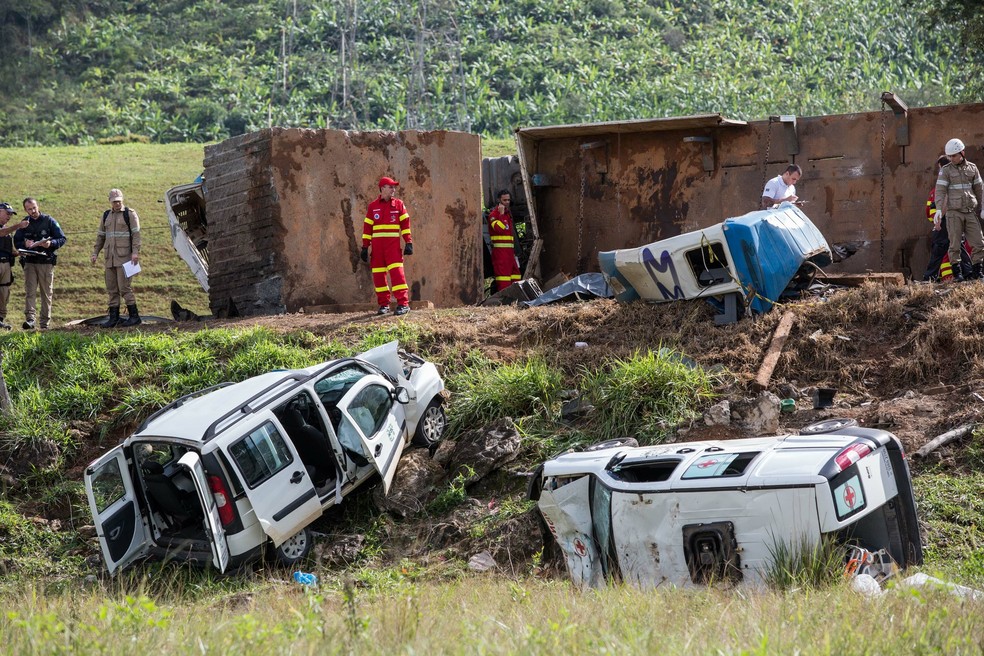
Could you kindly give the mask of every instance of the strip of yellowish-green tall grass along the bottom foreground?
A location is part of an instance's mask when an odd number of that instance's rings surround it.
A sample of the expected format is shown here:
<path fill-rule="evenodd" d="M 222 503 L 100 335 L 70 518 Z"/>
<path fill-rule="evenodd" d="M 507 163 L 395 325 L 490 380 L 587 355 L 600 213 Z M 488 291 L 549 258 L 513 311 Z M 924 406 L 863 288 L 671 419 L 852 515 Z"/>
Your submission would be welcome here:
<path fill-rule="evenodd" d="M 328 654 L 978 654 L 979 603 L 893 591 L 872 600 L 836 585 L 748 593 L 465 576 L 415 582 L 412 570 L 314 590 L 254 582 L 162 599 L 147 583 L 7 596 L 9 653 Z"/>

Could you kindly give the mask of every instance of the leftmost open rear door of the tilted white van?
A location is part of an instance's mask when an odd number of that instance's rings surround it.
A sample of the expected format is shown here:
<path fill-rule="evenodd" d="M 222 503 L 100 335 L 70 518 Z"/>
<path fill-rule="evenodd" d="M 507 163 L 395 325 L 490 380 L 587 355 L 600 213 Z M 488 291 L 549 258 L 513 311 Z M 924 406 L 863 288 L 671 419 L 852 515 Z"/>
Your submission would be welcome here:
<path fill-rule="evenodd" d="M 147 527 L 122 446 L 86 467 L 85 493 L 110 574 L 146 553 Z"/>

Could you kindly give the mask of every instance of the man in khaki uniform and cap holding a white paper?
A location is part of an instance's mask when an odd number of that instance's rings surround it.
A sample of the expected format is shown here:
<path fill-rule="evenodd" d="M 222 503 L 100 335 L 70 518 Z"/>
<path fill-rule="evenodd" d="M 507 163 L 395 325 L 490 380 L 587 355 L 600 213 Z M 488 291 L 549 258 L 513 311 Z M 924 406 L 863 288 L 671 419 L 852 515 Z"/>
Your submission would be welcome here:
<path fill-rule="evenodd" d="M 106 250 L 106 293 L 109 295 L 109 318 L 100 325 L 103 328 L 114 326 L 136 326 L 140 324 L 137 299 L 133 295 L 130 278 L 123 269 L 125 262 L 136 264 L 140 261 L 140 217 L 137 211 L 123 205 L 123 192 L 109 190 L 110 209 L 103 212 L 96 233 L 96 243 L 92 247 L 90 260 L 96 263 L 99 251 Z M 120 297 L 126 301 L 129 316 L 120 320 Z"/>

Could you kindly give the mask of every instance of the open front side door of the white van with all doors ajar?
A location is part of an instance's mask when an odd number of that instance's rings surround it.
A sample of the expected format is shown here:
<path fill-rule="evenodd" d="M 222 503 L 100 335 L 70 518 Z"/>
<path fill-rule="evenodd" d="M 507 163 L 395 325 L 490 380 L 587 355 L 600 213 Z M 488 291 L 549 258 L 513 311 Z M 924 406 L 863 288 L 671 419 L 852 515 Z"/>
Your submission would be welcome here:
<path fill-rule="evenodd" d="M 338 402 L 342 419 L 338 440 L 349 450 L 362 451 L 383 479 L 388 494 L 406 444 L 407 420 L 394 398 L 393 386 L 382 376 L 366 376 Z"/>

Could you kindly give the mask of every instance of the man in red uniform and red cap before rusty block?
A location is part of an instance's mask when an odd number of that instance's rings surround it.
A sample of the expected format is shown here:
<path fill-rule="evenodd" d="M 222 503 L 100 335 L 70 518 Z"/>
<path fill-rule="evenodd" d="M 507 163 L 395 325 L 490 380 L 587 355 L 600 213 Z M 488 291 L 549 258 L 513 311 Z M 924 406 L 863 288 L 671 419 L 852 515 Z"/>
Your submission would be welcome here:
<path fill-rule="evenodd" d="M 372 284 L 376 288 L 379 310 L 376 314 L 389 314 L 390 291 L 396 297 L 396 314 L 410 311 L 410 294 L 407 277 L 403 273 L 403 256 L 413 255 L 413 239 L 410 236 L 410 215 L 393 192 L 400 185 L 393 178 L 379 179 L 379 198 L 369 203 L 362 230 L 362 261 L 372 267 Z M 406 247 L 400 250 L 400 237 Z M 369 246 L 372 245 L 372 256 Z M 389 274 L 390 284 L 386 283 Z"/>

